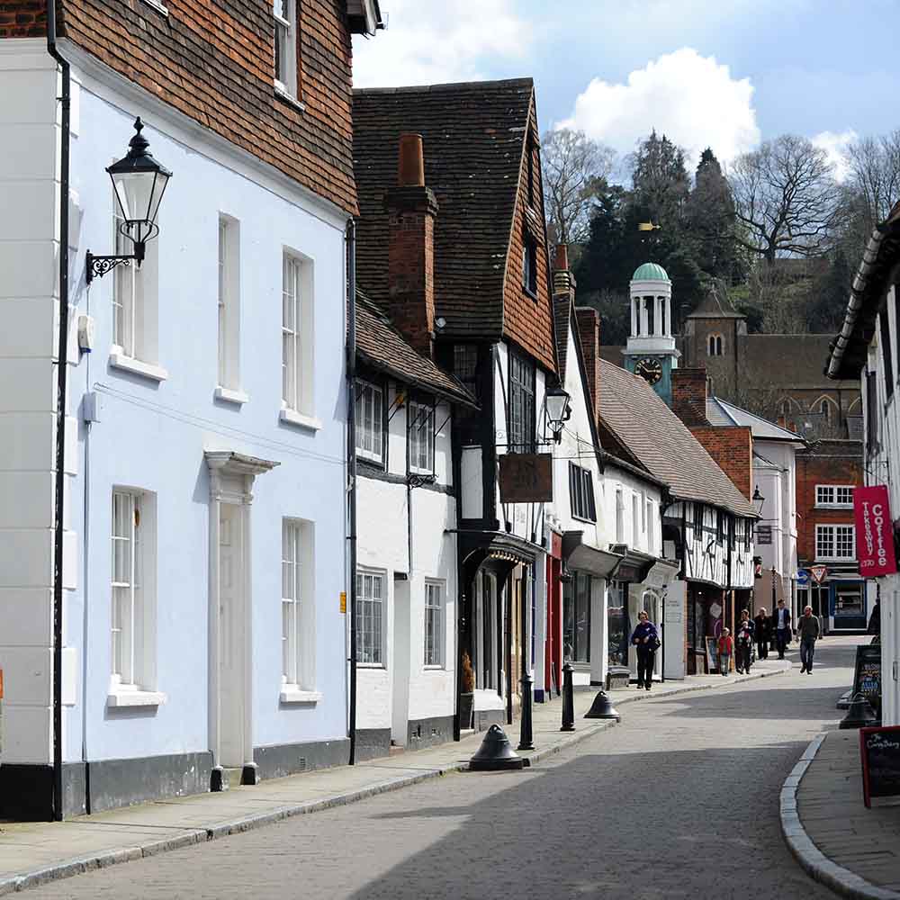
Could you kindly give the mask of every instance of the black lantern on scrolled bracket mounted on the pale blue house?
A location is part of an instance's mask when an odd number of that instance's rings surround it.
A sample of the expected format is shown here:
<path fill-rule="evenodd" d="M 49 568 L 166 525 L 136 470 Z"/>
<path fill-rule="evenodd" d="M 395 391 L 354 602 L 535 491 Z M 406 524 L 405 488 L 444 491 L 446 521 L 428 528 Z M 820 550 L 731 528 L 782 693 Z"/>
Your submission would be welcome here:
<path fill-rule="evenodd" d="M 132 259 L 140 266 L 144 261 L 147 241 L 159 233 L 157 212 L 172 173 L 148 152 L 149 141 L 140 133 L 143 127 L 140 117 L 135 119 L 134 137 L 129 141 L 127 155 L 106 169 L 112 179 L 112 190 L 122 219 L 119 231 L 134 245 L 134 253 L 95 257 L 88 250 L 87 284 L 91 284 L 94 275 L 103 277 L 116 266 Z"/>

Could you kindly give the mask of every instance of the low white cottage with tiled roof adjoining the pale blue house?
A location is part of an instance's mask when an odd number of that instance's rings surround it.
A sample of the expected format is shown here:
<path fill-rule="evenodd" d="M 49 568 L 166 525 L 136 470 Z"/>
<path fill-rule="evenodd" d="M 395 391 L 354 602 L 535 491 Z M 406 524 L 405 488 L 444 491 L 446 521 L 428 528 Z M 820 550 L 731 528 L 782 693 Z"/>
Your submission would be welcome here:
<path fill-rule="evenodd" d="M 372 303 L 356 320 L 356 759 L 453 739 L 454 407 L 474 399 Z"/>

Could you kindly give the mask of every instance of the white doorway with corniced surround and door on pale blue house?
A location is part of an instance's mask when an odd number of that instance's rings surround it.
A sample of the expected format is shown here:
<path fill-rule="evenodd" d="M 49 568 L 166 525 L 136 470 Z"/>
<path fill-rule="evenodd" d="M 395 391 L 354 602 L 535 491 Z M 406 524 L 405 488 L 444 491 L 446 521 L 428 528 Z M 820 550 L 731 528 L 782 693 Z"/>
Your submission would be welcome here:
<path fill-rule="evenodd" d="M 253 482 L 278 463 L 232 451 L 207 451 L 210 470 L 209 730 L 211 789 L 225 770 L 257 783 L 253 761 L 253 581 L 250 505 Z"/>

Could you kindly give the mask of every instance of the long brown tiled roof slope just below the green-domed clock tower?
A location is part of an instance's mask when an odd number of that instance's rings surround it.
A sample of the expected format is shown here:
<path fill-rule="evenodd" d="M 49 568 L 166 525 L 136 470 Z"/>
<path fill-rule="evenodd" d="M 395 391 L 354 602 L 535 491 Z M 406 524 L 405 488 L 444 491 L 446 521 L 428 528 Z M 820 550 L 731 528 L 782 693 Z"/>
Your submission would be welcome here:
<path fill-rule="evenodd" d="M 679 500 L 723 507 L 736 516 L 756 510 L 716 461 L 644 381 L 600 361 L 600 418 L 608 431 Z"/>

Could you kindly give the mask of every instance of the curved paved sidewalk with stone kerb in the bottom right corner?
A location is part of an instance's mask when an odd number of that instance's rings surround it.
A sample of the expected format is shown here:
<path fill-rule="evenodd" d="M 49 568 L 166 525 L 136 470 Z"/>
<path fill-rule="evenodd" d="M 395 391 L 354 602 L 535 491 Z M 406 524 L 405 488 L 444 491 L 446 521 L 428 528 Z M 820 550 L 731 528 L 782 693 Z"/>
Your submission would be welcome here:
<path fill-rule="evenodd" d="M 843 896 L 900 900 L 900 806 L 863 803 L 858 731 L 809 745 L 781 791 L 781 826 L 816 880 Z"/>

